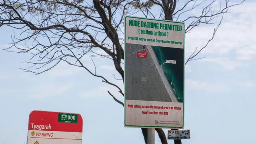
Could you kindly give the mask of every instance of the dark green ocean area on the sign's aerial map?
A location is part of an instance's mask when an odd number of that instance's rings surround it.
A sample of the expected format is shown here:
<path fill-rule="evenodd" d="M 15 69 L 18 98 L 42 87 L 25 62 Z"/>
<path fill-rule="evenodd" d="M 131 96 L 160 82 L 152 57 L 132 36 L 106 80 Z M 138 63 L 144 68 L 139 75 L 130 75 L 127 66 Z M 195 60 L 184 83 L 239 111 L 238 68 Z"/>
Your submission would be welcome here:
<path fill-rule="evenodd" d="M 151 46 L 178 102 L 184 101 L 184 49 Z M 165 63 L 176 60 L 176 64 Z M 163 64 L 165 63 L 165 64 Z"/>

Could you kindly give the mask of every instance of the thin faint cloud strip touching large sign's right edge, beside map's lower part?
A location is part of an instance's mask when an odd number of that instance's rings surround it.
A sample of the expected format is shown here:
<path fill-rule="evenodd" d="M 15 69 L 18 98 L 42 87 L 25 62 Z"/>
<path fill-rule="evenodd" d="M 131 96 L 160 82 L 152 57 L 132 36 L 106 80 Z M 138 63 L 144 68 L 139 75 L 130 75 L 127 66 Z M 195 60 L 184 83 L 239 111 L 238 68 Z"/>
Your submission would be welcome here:
<path fill-rule="evenodd" d="M 208 84 L 206 82 L 199 82 L 192 79 L 185 80 L 185 90 L 205 90 L 205 91 L 225 91 L 229 90 L 228 84 L 218 83 L 218 84 Z"/>

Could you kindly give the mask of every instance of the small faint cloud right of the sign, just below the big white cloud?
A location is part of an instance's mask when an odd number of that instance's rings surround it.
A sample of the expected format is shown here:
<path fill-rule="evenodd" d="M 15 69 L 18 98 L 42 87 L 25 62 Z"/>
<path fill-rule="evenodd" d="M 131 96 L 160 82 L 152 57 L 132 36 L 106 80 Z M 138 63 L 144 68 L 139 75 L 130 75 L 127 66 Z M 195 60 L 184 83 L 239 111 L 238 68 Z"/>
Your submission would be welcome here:
<path fill-rule="evenodd" d="M 217 65 L 220 65 L 224 70 L 232 70 L 236 67 L 241 66 L 240 62 L 231 61 L 228 57 L 203 58 L 201 61 L 215 63 Z"/>

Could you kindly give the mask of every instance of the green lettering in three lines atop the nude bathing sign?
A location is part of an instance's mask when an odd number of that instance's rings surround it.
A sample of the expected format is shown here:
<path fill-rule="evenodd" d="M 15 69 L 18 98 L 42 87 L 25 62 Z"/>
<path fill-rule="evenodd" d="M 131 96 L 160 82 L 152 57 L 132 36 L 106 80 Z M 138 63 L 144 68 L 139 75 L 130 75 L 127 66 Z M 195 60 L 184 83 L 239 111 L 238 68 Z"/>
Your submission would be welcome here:
<path fill-rule="evenodd" d="M 162 36 L 162 37 L 169 37 L 169 31 L 182 31 L 182 27 L 175 24 L 165 24 L 165 23 L 155 23 L 155 22 L 143 22 L 139 20 L 129 20 L 129 26 L 133 27 L 141 27 L 142 29 L 138 29 L 138 34 L 142 35 L 154 35 L 154 36 Z M 150 28 L 150 29 L 156 29 L 157 31 L 151 31 L 151 30 L 144 30 L 143 28 Z M 159 30 L 166 30 L 165 32 L 159 31 Z M 157 42 L 157 43 L 172 43 L 176 45 L 182 45 L 182 42 L 178 41 L 167 41 L 163 39 L 148 39 L 148 38 L 139 38 L 139 37 L 129 37 L 129 40 L 135 40 L 135 41 L 148 41 L 148 42 Z"/>

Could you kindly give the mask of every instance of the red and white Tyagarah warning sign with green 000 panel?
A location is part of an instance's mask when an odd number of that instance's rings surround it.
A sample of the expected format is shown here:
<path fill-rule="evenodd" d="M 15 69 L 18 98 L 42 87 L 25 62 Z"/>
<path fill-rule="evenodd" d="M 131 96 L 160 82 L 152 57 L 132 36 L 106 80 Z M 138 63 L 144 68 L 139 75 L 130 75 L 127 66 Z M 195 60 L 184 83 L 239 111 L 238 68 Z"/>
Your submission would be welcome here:
<path fill-rule="evenodd" d="M 29 115 L 27 144 L 82 144 L 80 114 L 34 110 Z"/>

